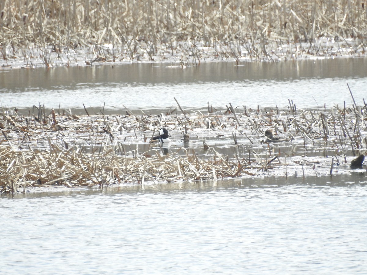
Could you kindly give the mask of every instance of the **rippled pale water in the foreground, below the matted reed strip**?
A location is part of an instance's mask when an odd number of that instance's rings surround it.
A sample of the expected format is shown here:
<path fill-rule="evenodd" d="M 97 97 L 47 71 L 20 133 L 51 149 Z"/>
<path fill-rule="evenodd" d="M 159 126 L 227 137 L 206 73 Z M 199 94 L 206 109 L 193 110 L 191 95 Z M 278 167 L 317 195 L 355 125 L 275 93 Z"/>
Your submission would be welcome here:
<path fill-rule="evenodd" d="M 366 186 L 361 172 L 1 195 L 1 272 L 365 274 Z"/>

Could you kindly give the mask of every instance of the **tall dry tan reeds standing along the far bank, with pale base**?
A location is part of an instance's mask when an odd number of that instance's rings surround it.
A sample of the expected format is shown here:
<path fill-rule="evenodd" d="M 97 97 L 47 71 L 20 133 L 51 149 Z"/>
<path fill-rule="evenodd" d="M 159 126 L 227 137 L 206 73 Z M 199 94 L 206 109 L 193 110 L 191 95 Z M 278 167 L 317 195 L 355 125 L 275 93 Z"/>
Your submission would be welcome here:
<path fill-rule="evenodd" d="M 361 0 L 5 0 L 0 58 L 52 66 L 355 56 L 366 54 L 366 22 Z"/>

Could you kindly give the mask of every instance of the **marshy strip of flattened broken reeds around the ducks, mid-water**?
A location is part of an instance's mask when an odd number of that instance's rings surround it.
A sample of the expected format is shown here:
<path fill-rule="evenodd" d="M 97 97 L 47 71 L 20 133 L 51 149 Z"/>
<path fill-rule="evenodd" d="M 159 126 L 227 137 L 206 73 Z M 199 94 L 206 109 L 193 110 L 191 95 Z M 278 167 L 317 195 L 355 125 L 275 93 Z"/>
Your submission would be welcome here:
<path fill-rule="evenodd" d="M 208 109 L 206 114 L 182 108 L 184 114 L 160 115 L 127 110 L 126 115 L 81 116 L 55 114 L 53 109 L 46 114 L 41 106 L 28 116 L 4 111 L 0 113 L 0 192 L 36 186 L 331 175 L 353 156 L 365 153 L 366 104 L 299 110 L 289 103 L 285 110 L 259 106 L 239 110 L 229 104 L 226 110 Z M 176 140 L 188 132 L 192 145 L 153 147 L 149 140 L 162 126 Z M 274 140 L 285 146 L 269 140 L 274 138 L 269 128 L 274 136 L 284 137 Z M 217 144 L 220 139 L 225 140 L 222 145 Z M 148 149 L 141 151 L 137 144 L 149 144 Z M 218 153 L 221 146 L 233 147 L 234 154 Z M 199 154 L 200 150 L 205 153 Z"/>

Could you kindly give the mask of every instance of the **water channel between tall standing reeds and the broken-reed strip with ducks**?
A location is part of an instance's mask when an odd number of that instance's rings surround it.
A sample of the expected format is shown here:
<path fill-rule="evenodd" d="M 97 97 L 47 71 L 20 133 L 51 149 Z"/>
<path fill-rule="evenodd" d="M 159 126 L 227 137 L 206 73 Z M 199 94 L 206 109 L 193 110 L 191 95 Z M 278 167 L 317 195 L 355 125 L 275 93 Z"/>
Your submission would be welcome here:
<path fill-rule="evenodd" d="M 182 68 L 171 63 L 133 63 L 92 67 L 0 70 L 3 107 L 79 109 L 83 103 L 100 112 L 124 109 L 233 106 L 275 107 L 294 100 L 298 108 L 327 107 L 366 97 L 367 58 L 315 59 L 290 62 L 202 63 Z M 93 113 L 90 110 L 90 113 Z"/>

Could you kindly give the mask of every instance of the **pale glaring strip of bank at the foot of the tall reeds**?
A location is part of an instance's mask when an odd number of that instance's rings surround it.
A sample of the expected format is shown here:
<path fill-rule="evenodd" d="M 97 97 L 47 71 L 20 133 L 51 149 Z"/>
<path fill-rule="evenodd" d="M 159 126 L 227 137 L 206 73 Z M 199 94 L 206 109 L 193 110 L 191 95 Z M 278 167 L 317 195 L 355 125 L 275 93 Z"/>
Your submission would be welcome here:
<path fill-rule="evenodd" d="M 112 47 L 112 46 L 111 46 Z M 323 39 L 314 43 L 295 43 L 284 45 L 281 49 L 272 49 L 271 53 L 263 58 L 255 58 L 244 54 L 242 57 L 223 58 L 215 55 L 215 49 L 201 47 L 201 54 L 198 56 L 184 56 L 183 53 L 171 56 L 147 54 L 138 55 L 131 58 L 122 53 L 110 55 L 109 45 L 104 48 L 103 55 L 95 54 L 90 47 L 77 50 L 68 49 L 59 52 L 54 51 L 54 47 L 49 46 L 43 49 L 32 49 L 33 55 L 12 56 L 12 58 L 0 59 L 0 69 L 10 68 L 37 68 L 37 67 L 68 67 L 68 66 L 93 66 L 93 65 L 121 65 L 129 63 L 171 63 L 184 68 L 185 66 L 200 65 L 205 62 L 233 62 L 240 64 L 243 62 L 281 62 L 304 59 L 334 59 L 334 58 L 359 58 L 366 57 L 367 51 L 359 47 L 356 41 L 350 39 L 343 42 Z M 323 49 L 316 51 L 315 49 Z M 228 50 L 228 49 L 223 49 Z M 292 54 L 289 54 L 292 52 Z M 37 53 L 37 54 L 34 54 Z M 41 57 L 47 55 L 47 58 Z"/>

